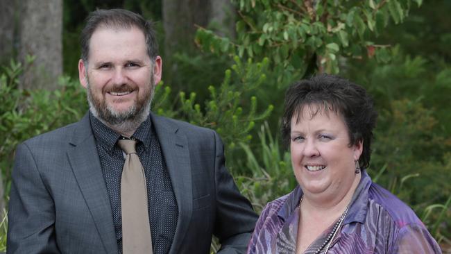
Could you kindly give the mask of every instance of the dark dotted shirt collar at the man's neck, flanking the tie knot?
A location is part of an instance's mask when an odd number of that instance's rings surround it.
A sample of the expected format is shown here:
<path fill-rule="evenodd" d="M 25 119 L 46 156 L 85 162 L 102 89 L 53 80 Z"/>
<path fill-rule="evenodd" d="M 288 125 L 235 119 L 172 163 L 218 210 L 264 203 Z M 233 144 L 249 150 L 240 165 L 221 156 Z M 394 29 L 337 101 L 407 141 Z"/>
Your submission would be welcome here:
<path fill-rule="evenodd" d="M 92 132 L 94 133 L 96 142 L 99 142 L 99 144 L 103 146 L 103 148 L 105 148 L 109 153 L 112 153 L 114 144 L 116 144 L 117 139 L 119 139 L 121 135 L 103 124 L 99 119 L 94 117 L 91 112 L 90 120 Z M 151 126 L 151 117 L 149 115 L 146 121 L 142 122 L 142 124 L 132 135 L 132 137 L 135 137 L 135 139 L 144 144 L 144 149 L 146 151 L 151 144 Z"/>

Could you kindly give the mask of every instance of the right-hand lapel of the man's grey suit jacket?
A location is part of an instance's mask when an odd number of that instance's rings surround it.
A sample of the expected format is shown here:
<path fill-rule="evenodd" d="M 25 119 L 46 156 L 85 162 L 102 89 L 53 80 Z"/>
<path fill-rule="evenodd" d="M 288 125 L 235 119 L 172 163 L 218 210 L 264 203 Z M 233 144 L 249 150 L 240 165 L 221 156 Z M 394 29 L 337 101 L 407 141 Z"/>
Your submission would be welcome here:
<path fill-rule="evenodd" d="M 179 253 L 180 244 L 185 238 L 193 209 L 191 163 L 187 137 L 180 132 L 175 123 L 152 113 L 151 119 L 162 148 L 178 205 L 176 235 L 174 235 L 169 253 Z"/>

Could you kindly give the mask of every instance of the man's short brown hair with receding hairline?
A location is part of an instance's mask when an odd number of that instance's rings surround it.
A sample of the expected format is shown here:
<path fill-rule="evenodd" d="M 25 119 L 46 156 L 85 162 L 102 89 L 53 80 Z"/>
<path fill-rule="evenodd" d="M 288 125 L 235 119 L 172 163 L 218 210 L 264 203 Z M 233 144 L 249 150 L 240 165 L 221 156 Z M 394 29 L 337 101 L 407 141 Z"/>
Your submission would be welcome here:
<path fill-rule="evenodd" d="M 81 59 L 87 63 L 90 54 L 90 39 L 94 31 L 99 27 L 105 28 L 138 28 L 146 39 L 147 54 L 151 60 L 155 60 L 158 56 L 158 42 L 155 38 L 153 25 L 141 15 L 130 10 L 111 9 L 111 10 L 94 10 L 86 18 L 86 26 L 80 35 L 81 43 Z"/>

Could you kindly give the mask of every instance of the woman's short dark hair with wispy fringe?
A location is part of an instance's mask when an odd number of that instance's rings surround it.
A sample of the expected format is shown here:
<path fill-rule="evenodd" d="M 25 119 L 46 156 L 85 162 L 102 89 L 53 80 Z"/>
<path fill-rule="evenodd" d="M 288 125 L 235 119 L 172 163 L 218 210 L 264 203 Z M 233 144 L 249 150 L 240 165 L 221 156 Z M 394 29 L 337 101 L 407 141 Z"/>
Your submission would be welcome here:
<path fill-rule="evenodd" d="M 368 168 L 371 158 L 371 139 L 376 125 L 377 112 L 373 99 L 366 90 L 339 76 L 321 74 L 295 83 L 285 94 L 284 115 L 282 118 L 282 138 L 289 144 L 291 119 L 297 117 L 305 106 L 317 105 L 312 116 L 321 110 L 332 110 L 343 118 L 350 138 L 350 146 L 363 143 L 359 165 Z"/>

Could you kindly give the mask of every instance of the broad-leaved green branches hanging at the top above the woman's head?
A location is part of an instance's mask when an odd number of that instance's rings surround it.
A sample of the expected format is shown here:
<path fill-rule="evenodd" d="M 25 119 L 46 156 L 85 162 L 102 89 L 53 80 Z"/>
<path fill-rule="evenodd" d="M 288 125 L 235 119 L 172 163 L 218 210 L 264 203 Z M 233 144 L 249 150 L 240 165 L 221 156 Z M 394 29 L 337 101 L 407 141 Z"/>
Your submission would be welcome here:
<path fill-rule="evenodd" d="M 278 83 L 286 85 L 305 76 L 309 68 L 339 72 L 339 57 L 389 60 L 387 45 L 369 40 L 393 20 L 403 22 L 411 0 L 296 1 L 234 0 L 240 19 L 237 41 L 200 28 L 196 41 L 204 51 L 269 56 Z M 420 6 L 421 1 L 414 1 Z M 306 65 L 307 63 L 307 65 Z M 312 71 L 312 70 L 310 70 Z M 315 71 L 313 71 L 315 72 Z"/>

